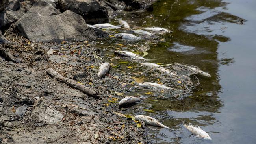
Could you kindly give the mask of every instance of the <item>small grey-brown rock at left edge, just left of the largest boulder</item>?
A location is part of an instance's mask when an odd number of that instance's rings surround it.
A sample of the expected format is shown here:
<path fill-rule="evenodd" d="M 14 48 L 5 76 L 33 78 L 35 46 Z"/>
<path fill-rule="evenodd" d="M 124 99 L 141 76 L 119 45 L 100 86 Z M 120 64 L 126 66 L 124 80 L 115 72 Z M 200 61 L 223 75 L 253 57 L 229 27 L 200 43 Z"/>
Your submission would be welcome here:
<path fill-rule="evenodd" d="M 16 22 L 21 18 L 23 13 L 12 10 L 5 10 L 0 12 L 0 28 L 7 27 L 11 23 Z"/>

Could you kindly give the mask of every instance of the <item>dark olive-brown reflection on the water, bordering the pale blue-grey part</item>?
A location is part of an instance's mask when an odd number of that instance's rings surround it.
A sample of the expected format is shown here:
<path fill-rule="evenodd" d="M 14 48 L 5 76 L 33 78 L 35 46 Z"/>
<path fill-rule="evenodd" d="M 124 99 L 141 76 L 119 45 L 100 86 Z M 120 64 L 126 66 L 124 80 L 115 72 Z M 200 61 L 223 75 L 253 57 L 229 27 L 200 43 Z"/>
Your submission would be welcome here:
<path fill-rule="evenodd" d="M 223 12 L 227 9 L 227 4 L 222 0 L 160 0 L 154 4 L 152 12 L 130 12 L 124 16 L 123 19 L 128 20 L 128 23 L 133 26 L 160 26 L 173 31 L 173 33 L 162 35 L 165 41 L 146 44 L 146 50 L 149 49 L 147 51 L 148 58 L 155 59 L 156 63 L 195 65 L 212 76 L 211 78 L 198 76 L 200 85 L 182 100 L 158 99 L 149 96 L 148 99 L 157 101 L 145 100 L 143 103 L 123 111 L 123 113 L 134 115 L 152 116 L 173 129 L 173 131 L 169 131 L 148 126 L 147 140 L 150 143 L 211 143 L 191 137 L 191 133 L 181 126 L 180 120 L 184 120 L 186 123 L 191 122 L 195 126 L 198 124 L 210 135 L 219 133 L 218 129 L 213 127 L 220 123 L 215 114 L 220 113 L 220 109 L 223 107 L 223 102 L 219 100 L 219 93 L 222 89 L 219 84 L 218 69 L 220 65 L 234 63 L 234 59 L 225 57 L 224 54 L 222 54 L 223 58 L 218 59 L 217 49 L 219 42 L 230 41 L 230 38 L 224 33 L 228 29 L 226 24 L 242 24 L 241 22 L 245 21 L 243 18 Z M 113 44 L 119 42 L 112 40 L 104 43 L 104 48 L 109 48 L 109 55 L 115 49 Z M 141 50 L 137 49 L 134 43 L 123 42 L 123 44 L 126 47 L 119 49 Z M 137 63 L 133 65 L 137 65 Z M 136 72 L 136 70 L 132 72 Z M 137 72 L 141 72 L 141 70 L 139 69 Z M 137 92 L 137 94 L 143 94 L 143 92 Z M 145 112 L 144 108 L 152 109 L 155 112 Z"/>

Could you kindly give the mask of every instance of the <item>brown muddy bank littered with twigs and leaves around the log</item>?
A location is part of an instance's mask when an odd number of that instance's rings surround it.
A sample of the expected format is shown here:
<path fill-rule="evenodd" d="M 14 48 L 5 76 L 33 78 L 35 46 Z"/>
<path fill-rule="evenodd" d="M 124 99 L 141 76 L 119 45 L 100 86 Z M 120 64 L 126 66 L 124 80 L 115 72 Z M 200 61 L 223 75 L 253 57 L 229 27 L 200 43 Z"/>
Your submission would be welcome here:
<path fill-rule="evenodd" d="M 104 52 L 95 48 L 94 42 L 31 42 L 16 36 L 13 28 L 6 33 L 6 39 L 8 44 L 1 44 L 0 48 L 22 62 L 0 57 L 0 142 L 145 143 L 144 125 L 137 127 L 133 120 L 113 113 L 119 111 L 117 102 L 123 98 L 115 91 L 131 91 L 121 89 L 130 79 L 110 71 L 110 76 L 96 81 Z M 47 54 L 50 48 L 53 54 Z M 89 97 L 51 78 L 46 73 L 48 68 L 96 90 L 100 98 Z M 43 100 L 46 107 L 60 112 L 61 121 L 50 124 L 31 117 L 36 100 Z M 13 122 L 6 121 L 23 104 L 28 105 L 25 115 Z"/>

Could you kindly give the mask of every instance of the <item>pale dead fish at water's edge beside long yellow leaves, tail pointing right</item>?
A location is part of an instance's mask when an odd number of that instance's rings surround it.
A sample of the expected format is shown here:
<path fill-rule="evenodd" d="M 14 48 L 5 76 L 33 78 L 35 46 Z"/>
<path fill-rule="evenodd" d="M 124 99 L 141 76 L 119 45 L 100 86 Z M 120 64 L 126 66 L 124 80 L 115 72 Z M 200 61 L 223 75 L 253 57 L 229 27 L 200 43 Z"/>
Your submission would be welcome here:
<path fill-rule="evenodd" d="M 158 122 L 158 120 L 156 120 L 155 118 L 152 118 L 150 116 L 137 115 L 137 116 L 135 116 L 135 120 L 143 121 L 143 122 L 145 122 L 145 124 L 148 124 L 151 126 L 159 126 L 159 127 L 163 127 L 166 129 L 170 129 L 169 127 L 161 124 L 160 122 Z"/>

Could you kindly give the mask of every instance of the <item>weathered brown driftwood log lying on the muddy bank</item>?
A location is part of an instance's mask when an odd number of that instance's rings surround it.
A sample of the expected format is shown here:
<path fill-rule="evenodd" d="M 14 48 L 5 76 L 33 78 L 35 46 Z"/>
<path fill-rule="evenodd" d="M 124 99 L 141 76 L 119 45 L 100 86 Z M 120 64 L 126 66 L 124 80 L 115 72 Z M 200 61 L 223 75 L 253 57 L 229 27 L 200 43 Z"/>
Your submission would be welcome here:
<path fill-rule="evenodd" d="M 61 74 L 59 74 L 58 72 L 56 72 L 52 68 L 49 68 L 47 70 L 47 74 L 50 75 L 52 78 L 56 78 L 58 81 L 69 85 L 70 87 L 72 87 L 74 89 L 80 90 L 81 92 L 87 94 L 87 96 L 92 96 L 94 98 L 99 98 L 98 92 L 90 89 L 89 87 L 86 87 L 85 85 L 77 83 L 76 81 L 74 81 L 72 79 L 65 78 L 64 76 L 61 76 Z"/>

